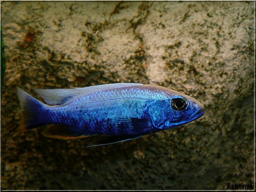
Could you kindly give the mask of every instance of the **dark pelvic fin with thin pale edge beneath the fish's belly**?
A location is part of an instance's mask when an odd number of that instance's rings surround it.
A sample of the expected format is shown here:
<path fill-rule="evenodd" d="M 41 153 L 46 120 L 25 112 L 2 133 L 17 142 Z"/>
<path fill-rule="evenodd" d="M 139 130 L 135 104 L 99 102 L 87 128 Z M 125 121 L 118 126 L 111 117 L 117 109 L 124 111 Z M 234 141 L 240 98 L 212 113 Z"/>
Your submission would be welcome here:
<path fill-rule="evenodd" d="M 100 138 L 95 139 L 94 141 L 89 142 L 87 147 L 94 147 L 94 146 L 100 146 L 100 145 L 108 145 L 113 143 L 118 143 L 122 141 L 128 141 L 132 139 L 139 138 L 140 136 L 109 136 L 104 135 Z"/>

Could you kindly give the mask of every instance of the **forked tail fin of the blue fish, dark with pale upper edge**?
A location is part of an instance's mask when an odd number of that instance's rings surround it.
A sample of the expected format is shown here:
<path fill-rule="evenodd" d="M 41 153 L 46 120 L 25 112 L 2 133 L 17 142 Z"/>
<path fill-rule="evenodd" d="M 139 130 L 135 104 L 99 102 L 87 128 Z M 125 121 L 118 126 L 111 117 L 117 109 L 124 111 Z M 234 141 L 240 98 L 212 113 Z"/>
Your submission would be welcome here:
<path fill-rule="evenodd" d="M 41 122 L 41 116 L 45 104 L 32 97 L 19 87 L 17 87 L 17 93 L 21 107 L 19 131 L 25 132 L 44 125 L 44 123 Z"/>

